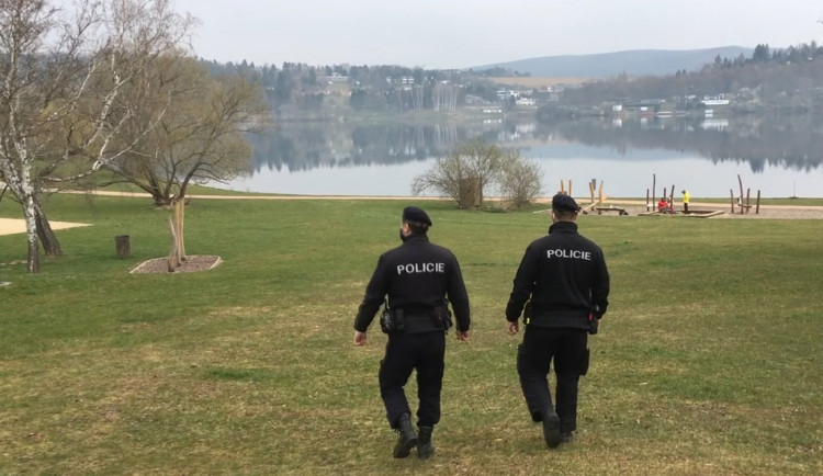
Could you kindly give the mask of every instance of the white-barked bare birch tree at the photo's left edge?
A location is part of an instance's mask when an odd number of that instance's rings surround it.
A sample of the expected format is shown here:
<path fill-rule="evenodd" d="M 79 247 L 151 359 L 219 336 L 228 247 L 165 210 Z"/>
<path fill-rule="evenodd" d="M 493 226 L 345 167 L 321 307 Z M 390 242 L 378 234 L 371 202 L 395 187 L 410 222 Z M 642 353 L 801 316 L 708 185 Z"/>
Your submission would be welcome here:
<path fill-rule="evenodd" d="M 117 137 L 140 103 L 122 92 L 192 22 L 169 0 L 78 0 L 70 12 L 0 0 L 0 173 L 25 217 L 30 273 L 41 269 L 38 236 L 47 253 L 60 251 L 42 196 L 129 149 Z"/>

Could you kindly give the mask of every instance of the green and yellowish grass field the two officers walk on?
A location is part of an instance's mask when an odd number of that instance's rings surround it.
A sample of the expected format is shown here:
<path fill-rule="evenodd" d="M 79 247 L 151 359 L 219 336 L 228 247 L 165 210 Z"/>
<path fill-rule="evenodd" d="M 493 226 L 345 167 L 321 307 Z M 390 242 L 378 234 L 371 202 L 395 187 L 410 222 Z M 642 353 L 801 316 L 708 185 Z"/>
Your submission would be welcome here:
<path fill-rule="evenodd" d="M 223 263 L 129 274 L 167 253 L 169 212 L 53 197 L 50 219 L 93 226 L 58 231 L 66 256 L 38 275 L 24 236 L 0 236 L 0 475 L 823 473 L 823 222 L 580 217 L 611 305 L 578 438 L 548 451 L 504 308 L 549 218 L 446 202 L 416 204 L 461 262 L 472 340 L 449 336 L 437 456 L 393 460 L 385 337 L 351 338 L 406 204 L 195 200 L 187 250 Z M 19 211 L 5 200 L 0 216 Z M 116 258 L 116 235 L 132 258 Z"/>

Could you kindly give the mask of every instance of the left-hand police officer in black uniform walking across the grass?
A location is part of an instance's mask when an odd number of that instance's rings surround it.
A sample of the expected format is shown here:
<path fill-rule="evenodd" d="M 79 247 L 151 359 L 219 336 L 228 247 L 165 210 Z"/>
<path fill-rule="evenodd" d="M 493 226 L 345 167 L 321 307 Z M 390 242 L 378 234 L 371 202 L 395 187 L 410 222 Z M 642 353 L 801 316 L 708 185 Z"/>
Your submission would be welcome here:
<path fill-rule="evenodd" d="M 415 445 L 421 460 L 435 454 L 431 432 L 440 421 L 446 330 L 451 321 L 447 297 L 454 309 L 458 339 L 469 340 L 469 296 L 460 265 L 450 250 L 429 242 L 430 226 L 425 211 L 414 206 L 403 209 L 403 245 L 377 260 L 354 319 L 354 345 L 363 345 L 369 325 L 388 296 L 391 322 L 390 329 L 383 329 L 388 341 L 379 381 L 388 424 L 399 434 L 394 457 L 408 456 Z M 417 371 L 419 435 L 412 426 L 403 390 L 413 370 Z"/>

